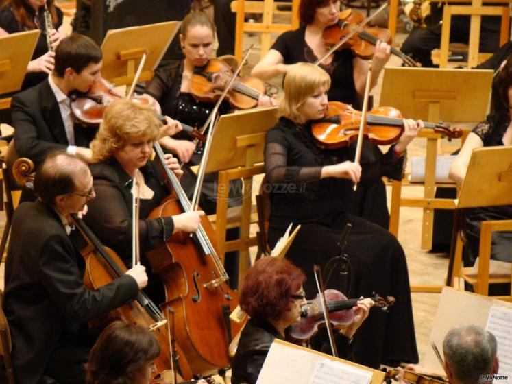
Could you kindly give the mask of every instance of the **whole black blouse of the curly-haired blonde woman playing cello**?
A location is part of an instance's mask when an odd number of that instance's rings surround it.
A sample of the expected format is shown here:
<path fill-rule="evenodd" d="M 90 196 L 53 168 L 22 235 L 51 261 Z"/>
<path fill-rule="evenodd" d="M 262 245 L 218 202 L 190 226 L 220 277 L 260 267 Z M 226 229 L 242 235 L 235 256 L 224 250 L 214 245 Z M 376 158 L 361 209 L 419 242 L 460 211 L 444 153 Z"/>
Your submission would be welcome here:
<path fill-rule="evenodd" d="M 138 222 L 141 254 L 169 238 L 174 230 L 172 217 L 147 219 L 151 211 L 169 195 L 156 165 L 148 162 L 140 171 L 147 187 L 154 191 L 150 200 L 141 199 Z M 114 158 L 90 165 L 96 198 L 88 202 L 86 224 L 103 244 L 112 248 L 127 265 L 132 263 L 132 178 Z"/>

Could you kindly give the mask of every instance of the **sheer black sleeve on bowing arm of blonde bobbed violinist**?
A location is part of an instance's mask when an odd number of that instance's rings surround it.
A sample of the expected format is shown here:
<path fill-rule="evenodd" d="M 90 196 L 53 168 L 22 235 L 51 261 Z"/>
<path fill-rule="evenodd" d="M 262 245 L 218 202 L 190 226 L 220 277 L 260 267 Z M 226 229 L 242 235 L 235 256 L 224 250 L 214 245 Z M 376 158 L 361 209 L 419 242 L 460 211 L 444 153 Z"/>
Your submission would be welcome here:
<path fill-rule="evenodd" d="M 322 167 L 287 166 L 287 149 L 279 143 L 265 145 L 265 174 L 271 184 L 320 180 Z"/>

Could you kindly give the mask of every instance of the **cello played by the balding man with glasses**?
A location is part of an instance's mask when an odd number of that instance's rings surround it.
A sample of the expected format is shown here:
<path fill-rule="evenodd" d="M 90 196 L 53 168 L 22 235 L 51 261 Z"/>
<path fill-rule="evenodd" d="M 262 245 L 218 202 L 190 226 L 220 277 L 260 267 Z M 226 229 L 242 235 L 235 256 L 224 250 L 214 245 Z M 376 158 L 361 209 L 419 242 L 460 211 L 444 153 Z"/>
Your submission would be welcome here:
<path fill-rule="evenodd" d="M 125 274 L 127 268 L 121 258 L 110 248 L 104 247 L 99 239 L 93 234 L 88 226 L 78 219 L 76 215 L 71 215 L 75 226 L 80 230 L 82 236 L 88 245 L 82 250 L 86 269 L 84 273 L 84 285 L 88 289 L 98 289 L 103 285 L 111 283 L 115 278 Z M 149 329 L 160 344 L 160 355 L 154 360 L 156 365 L 155 376 L 152 383 L 170 384 L 173 377 L 171 367 L 171 353 L 169 346 L 169 333 L 167 331 L 167 319 L 160 312 L 158 307 L 149 300 L 149 298 L 139 291 L 136 300 L 127 302 L 122 307 L 113 309 L 101 319 L 92 320 L 90 326 L 101 327 L 110 324 L 114 320 L 121 320 L 130 324 L 136 324 Z M 175 345 L 177 355 L 180 357 L 180 371 L 187 379 L 192 378 L 192 372 L 180 346 Z"/>

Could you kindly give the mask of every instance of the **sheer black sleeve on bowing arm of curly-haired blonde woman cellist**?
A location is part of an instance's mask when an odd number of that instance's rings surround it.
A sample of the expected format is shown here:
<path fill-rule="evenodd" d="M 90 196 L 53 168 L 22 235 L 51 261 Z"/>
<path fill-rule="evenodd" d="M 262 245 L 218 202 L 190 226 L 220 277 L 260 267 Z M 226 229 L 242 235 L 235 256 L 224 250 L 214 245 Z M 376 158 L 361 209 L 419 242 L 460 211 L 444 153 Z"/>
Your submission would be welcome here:
<path fill-rule="evenodd" d="M 96 198 L 88 203 L 86 222 L 103 243 L 109 245 L 130 265 L 132 255 L 132 212 L 113 182 L 95 180 Z M 138 222 L 141 253 L 169 237 L 174 230 L 172 217 L 140 219 Z"/>

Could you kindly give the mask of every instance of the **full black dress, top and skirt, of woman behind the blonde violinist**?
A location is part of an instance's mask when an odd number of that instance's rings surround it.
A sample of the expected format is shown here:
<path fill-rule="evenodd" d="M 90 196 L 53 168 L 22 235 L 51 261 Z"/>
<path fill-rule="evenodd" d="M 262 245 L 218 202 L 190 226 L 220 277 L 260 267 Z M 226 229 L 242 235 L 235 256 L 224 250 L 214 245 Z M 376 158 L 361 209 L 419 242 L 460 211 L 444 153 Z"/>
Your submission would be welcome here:
<path fill-rule="evenodd" d="M 302 44 L 298 43 L 302 42 Z M 306 25 L 295 31 L 284 32 L 280 35 L 271 49 L 278 51 L 284 59 L 284 64 L 296 62 L 315 62 L 317 57 L 313 50 L 306 43 Z M 331 77 L 331 86 L 328 91 L 330 101 L 341 101 L 351 104 L 356 110 L 361 109 L 356 84 L 354 83 L 354 54 L 350 49 L 343 49 L 334 53 L 330 64 L 320 64 Z M 368 141 L 363 142 L 361 152 L 361 164 L 374 163 L 382 156 L 377 145 Z M 384 173 L 385 176 L 391 177 Z M 397 180 L 402 178 L 401 174 L 395 176 Z M 352 203 L 348 211 L 367 219 L 372 223 L 389 228 L 389 212 L 387 210 L 386 187 L 382 180 L 365 184 L 357 189 L 352 197 Z"/>

